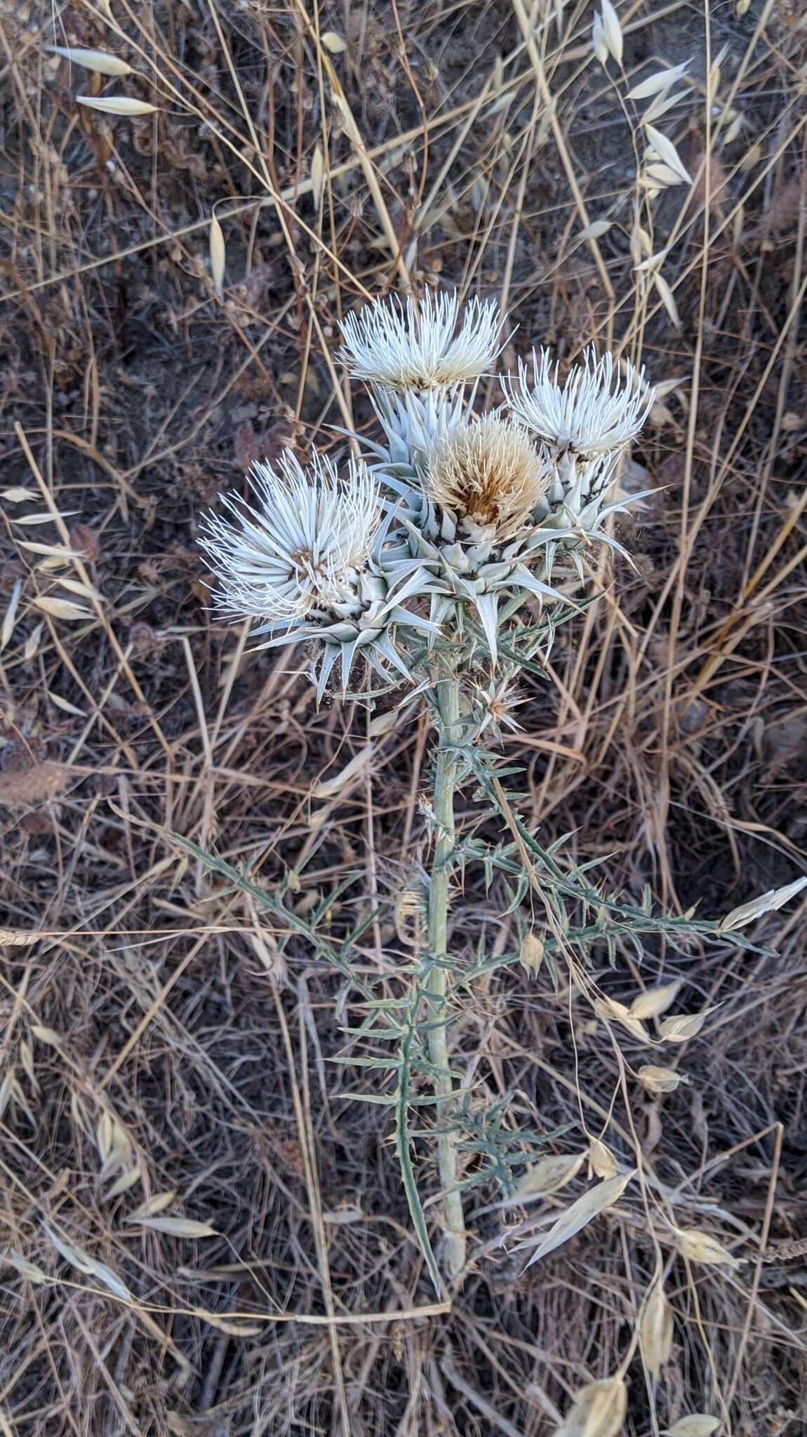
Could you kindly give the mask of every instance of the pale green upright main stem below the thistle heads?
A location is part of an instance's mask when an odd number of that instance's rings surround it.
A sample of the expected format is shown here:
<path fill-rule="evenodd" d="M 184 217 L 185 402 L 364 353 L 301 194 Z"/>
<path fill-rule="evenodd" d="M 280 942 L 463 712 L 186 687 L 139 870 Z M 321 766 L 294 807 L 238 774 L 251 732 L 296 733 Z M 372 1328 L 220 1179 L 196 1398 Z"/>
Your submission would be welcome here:
<path fill-rule="evenodd" d="M 429 1013 L 429 1059 L 434 1068 L 434 1091 L 437 1098 L 437 1121 L 442 1131 L 438 1137 L 438 1168 L 444 1191 L 445 1242 L 444 1260 L 448 1279 L 457 1277 L 465 1266 L 465 1220 L 462 1216 L 462 1194 L 457 1190 L 457 1141 L 451 1131 L 451 1101 L 454 1082 L 448 1066 L 447 1038 L 447 979 L 448 979 L 448 884 L 451 856 L 454 854 L 454 787 L 457 785 L 457 760 L 451 746 L 458 740 L 460 680 L 448 673 L 438 681 L 438 750 L 434 785 L 434 816 L 437 844 L 429 875 L 428 941 L 437 964 L 429 976 L 432 1004 Z"/>

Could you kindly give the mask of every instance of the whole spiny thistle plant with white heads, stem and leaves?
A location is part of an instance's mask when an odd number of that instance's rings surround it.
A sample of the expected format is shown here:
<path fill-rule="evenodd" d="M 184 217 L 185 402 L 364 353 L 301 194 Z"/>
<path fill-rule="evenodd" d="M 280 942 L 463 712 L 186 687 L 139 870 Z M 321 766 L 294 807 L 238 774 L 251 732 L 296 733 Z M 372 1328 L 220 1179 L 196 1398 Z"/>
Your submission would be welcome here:
<path fill-rule="evenodd" d="M 465 1266 L 464 1191 L 491 1173 L 507 1190 L 518 1161 L 501 1128 L 494 1138 L 493 1127 L 480 1135 L 470 1124 L 449 1063 L 452 987 L 518 957 L 481 957 L 471 969 L 452 957 L 451 897 L 465 867 L 480 862 L 488 882 L 497 874 L 521 928 L 527 891 L 540 894 L 547 923 L 531 938 L 533 967 L 536 951 L 584 958 L 600 944 L 613 957 L 625 943 L 640 953 L 643 934 L 675 947 L 734 933 L 692 915 L 659 917 L 646 898 L 603 895 L 584 869 L 564 868 L 538 845 L 504 787 L 510 770 L 490 744 L 516 723 L 513 684 L 524 671 L 541 673 L 557 625 L 589 602 L 582 581 L 592 546 L 625 553 L 607 520 L 642 497 L 626 499 L 617 481 L 653 388 L 642 369 L 593 349 L 561 379 L 544 349 L 498 376 L 495 408 L 480 412 L 501 332 L 494 303 L 471 300 L 462 312 L 448 293 L 378 300 L 349 315 L 339 358 L 368 387 L 378 434 L 346 435 L 360 458 L 314 453 L 303 468 L 286 451 L 274 468 L 256 466 L 248 497 L 225 496 L 225 516 L 205 516 L 201 537 L 214 605 L 233 619 L 257 619 L 260 647 L 303 642 L 317 701 L 329 685 L 345 696 L 356 675 L 352 693 L 401 688 L 409 710 L 418 693 L 434 723 L 419 950 L 401 999 L 368 992 L 359 1036 L 372 1036 L 376 1049 L 393 1045 L 395 1089 L 373 1101 L 395 1108 L 409 1209 L 438 1290 L 441 1267 L 457 1282 Z M 468 780 L 505 842 L 457 832 L 455 793 Z M 409 1111 L 424 1102 L 415 1075 L 434 1094 L 441 1265 L 412 1171 Z"/>

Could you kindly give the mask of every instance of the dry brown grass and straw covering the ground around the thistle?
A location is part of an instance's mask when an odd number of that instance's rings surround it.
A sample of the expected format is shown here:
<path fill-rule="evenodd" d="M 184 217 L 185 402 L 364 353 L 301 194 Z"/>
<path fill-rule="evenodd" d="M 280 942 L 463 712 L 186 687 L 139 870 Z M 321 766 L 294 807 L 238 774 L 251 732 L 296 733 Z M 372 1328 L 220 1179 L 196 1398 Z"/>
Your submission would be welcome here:
<path fill-rule="evenodd" d="M 793 1437 L 804 904 L 745 953 L 658 941 L 455 987 L 468 1173 L 497 1122 L 537 1193 L 472 1190 L 468 1276 L 434 1302 L 388 1115 L 350 1101 L 372 1069 L 332 1062 L 362 1002 L 326 957 L 366 918 L 356 974 L 398 992 L 426 723 L 317 710 L 303 654 L 250 655 L 204 606 L 192 525 L 251 460 L 366 418 L 333 351 L 368 295 L 458 283 L 521 351 L 645 362 L 662 398 L 629 481 L 663 487 L 620 520 L 636 569 L 592 555 L 602 596 L 550 681 L 523 677 L 504 749 L 541 842 L 610 888 L 712 917 L 798 877 L 804 24 L 784 0 L 620 6 L 603 66 L 590 7 L 521 0 L 0 19 L 4 1427 L 550 1433 L 622 1371 L 628 1431 Z M 685 60 L 648 121 L 658 92 L 629 95 Z M 111 93 L 155 109 L 76 103 Z M 686 180 L 645 158 L 648 124 Z M 470 865 L 468 967 L 518 947 L 504 907 Z M 617 1004 L 669 983 L 712 1012 L 662 1050 Z M 635 1076 L 653 1065 L 681 1081 Z M 524 1270 L 524 1232 L 610 1163 L 642 1183 Z M 612 1397 L 582 1421 L 607 1430 Z"/>

